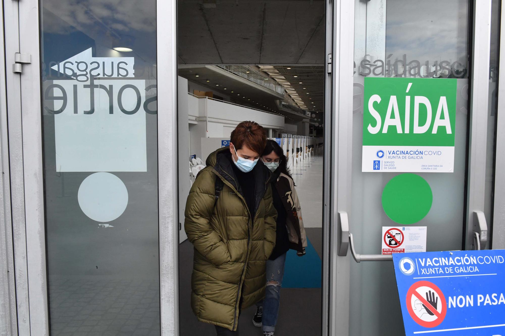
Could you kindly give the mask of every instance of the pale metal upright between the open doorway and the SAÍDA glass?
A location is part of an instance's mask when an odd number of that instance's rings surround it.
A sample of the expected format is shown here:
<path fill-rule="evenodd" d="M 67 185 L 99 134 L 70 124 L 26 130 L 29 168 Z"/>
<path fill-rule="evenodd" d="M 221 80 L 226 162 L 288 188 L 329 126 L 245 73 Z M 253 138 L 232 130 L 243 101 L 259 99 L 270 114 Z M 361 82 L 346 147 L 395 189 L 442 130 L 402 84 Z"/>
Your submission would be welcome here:
<path fill-rule="evenodd" d="M 350 204 L 354 1 L 326 2 L 323 335 L 348 335 L 349 257 L 338 257 L 338 211 Z"/>

